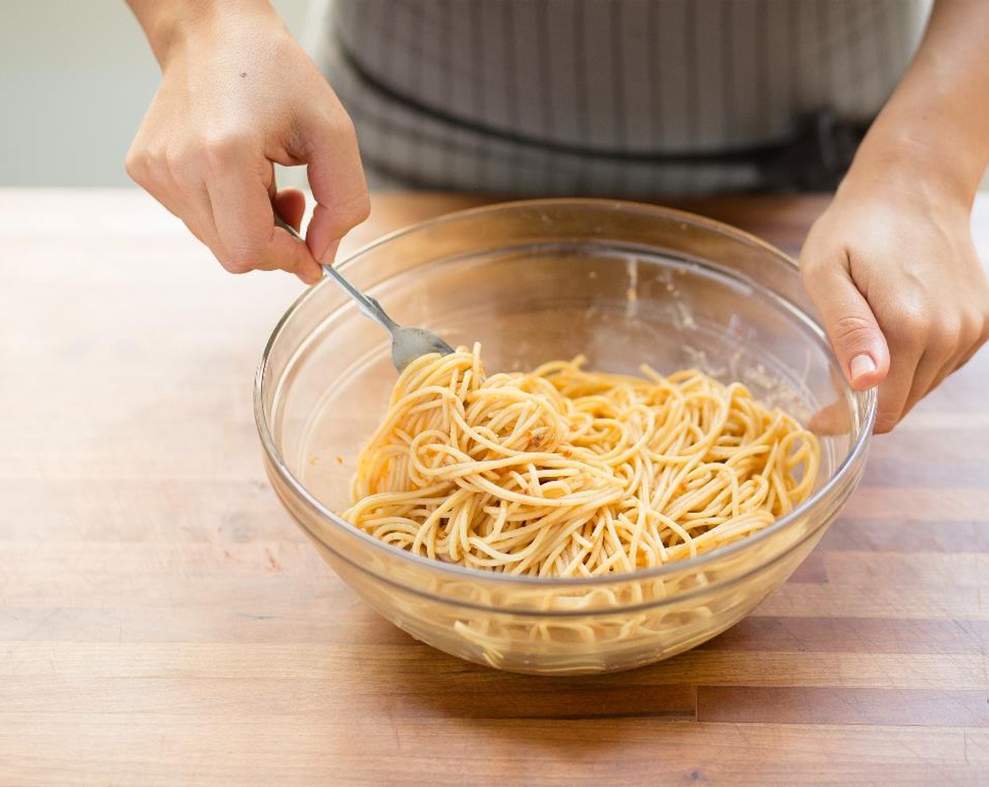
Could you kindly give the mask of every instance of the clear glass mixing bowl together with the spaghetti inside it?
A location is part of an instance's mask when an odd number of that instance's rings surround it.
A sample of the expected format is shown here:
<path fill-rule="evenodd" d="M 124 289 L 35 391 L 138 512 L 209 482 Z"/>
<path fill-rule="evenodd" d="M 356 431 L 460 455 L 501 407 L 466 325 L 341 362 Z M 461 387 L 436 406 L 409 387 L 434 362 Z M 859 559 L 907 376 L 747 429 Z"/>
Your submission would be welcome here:
<path fill-rule="evenodd" d="M 337 573 L 417 639 L 547 674 L 656 661 L 782 583 L 860 479 L 847 386 L 792 260 L 597 200 L 452 214 L 342 268 L 458 349 L 400 376 L 320 284 L 275 329 L 269 477 Z"/>

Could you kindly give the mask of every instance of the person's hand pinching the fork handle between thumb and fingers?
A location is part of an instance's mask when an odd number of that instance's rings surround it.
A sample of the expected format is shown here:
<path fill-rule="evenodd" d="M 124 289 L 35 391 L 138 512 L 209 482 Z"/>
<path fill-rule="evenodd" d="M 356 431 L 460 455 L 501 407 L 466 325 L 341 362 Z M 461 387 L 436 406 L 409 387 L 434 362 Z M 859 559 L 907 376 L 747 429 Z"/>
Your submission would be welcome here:
<path fill-rule="evenodd" d="M 332 262 L 369 211 L 336 95 L 263 6 L 218 4 L 158 27 L 168 32 L 155 47 L 162 81 L 128 153 L 131 177 L 228 271 L 281 268 L 317 281 L 318 263 Z M 305 244 L 274 225 L 273 205 L 298 229 L 305 197 L 276 189 L 272 162 L 309 164 L 316 206 Z"/>

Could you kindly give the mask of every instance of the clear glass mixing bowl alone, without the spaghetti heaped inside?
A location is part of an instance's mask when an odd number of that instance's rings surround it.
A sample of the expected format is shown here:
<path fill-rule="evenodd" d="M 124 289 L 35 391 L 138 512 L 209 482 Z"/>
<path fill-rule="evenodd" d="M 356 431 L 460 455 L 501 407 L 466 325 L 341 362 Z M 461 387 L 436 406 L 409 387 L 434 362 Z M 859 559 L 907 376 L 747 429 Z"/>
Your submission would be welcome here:
<path fill-rule="evenodd" d="M 332 283 L 303 295 L 258 369 L 275 491 L 333 569 L 412 637 L 501 669 L 627 669 L 738 622 L 820 540 L 861 478 L 873 393 L 845 382 L 792 259 L 714 221 L 649 205 L 538 200 L 395 233 L 340 266 L 405 325 L 484 345 L 489 370 L 583 353 L 588 368 L 694 366 L 808 421 L 827 408 L 814 494 L 743 541 L 592 580 L 484 572 L 409 554 L 340 519 L 397 377 L 385 333 Z"/>

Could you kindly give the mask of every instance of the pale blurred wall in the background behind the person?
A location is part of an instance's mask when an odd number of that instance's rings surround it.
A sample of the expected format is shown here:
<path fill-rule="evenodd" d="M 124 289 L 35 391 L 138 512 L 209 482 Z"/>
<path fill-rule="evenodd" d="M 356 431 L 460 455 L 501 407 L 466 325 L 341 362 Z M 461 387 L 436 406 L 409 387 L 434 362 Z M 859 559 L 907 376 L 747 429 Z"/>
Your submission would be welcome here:
<path fill-rule="evenodd" d="M 273 2 L 301 40 L 310 4 Z M 158 76 L 124 0 L 0 0 L 0 186 L 132 185 L 124 156 Z"/>

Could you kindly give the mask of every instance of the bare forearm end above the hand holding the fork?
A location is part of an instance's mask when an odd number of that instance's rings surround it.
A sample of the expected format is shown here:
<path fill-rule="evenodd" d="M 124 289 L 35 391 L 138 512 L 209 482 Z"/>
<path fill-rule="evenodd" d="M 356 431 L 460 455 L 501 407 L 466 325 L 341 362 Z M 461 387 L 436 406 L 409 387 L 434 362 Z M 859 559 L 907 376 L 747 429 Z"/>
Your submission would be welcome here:
<path fill-rule="evenodd" d="M 208 30 L 237 17 L 278 18 L 267 0 L 127 0 L 127 4 L 162 67 L 176 42 L 192 31 Z"/>

